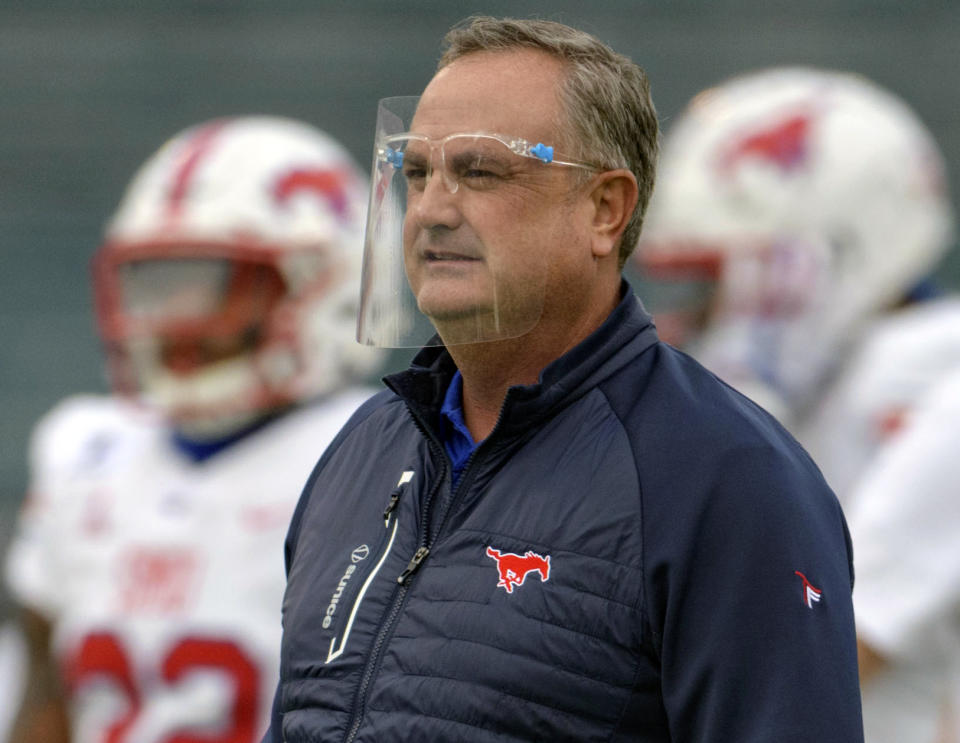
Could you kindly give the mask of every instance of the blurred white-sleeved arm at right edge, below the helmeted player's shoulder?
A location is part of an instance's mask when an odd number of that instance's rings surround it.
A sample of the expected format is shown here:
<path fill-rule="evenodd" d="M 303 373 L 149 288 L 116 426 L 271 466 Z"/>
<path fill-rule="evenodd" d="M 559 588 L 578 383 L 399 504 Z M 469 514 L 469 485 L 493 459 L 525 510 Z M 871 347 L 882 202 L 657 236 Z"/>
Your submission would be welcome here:
<path fill-rule="evenodd" d="M 864 689 L 887 664 L 936 662 L 949 652 L 946 638 L 954 630 L 941 628 L 954 626 L 960 595 L 958 413 L 960 375 L 954 375 L 917 404 L 852 493 Z"/>

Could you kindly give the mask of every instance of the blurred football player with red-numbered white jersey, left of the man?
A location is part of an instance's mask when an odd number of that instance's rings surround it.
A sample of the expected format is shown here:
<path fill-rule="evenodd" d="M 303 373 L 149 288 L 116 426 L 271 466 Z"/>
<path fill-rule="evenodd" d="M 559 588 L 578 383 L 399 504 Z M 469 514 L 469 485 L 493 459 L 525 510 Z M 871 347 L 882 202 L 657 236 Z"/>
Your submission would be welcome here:
<path fill-rule="evenodd" d="M 367 186 L 306 124 L 223 119 L 136 174 L 94 260 L 118 394 L 37 425 L 6 563 L 18 743 L 259 741 L 283 539 L 383 363 L 354 340 Z"/>

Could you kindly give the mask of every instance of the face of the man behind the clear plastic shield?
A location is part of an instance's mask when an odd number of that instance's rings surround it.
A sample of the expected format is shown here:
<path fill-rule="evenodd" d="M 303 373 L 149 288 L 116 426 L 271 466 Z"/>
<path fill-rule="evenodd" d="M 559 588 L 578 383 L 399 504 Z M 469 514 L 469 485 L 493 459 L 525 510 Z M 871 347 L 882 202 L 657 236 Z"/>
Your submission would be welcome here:
<path fill-rule="evenodd" d="M 435 141 L 467 132 L 509 135 L 559 154 L 561 75 L 558 60 L 533 50 L 462 57 L 427 86 L 411 130 Z M 448 172 L 462 176 L 456 192 L 441 173 L 439 147 L 421 146 L 404 163 L 429 162 L 433 170 L 408 194 L 407 278 L 447 343 L 522 335 L 540 318 L 551 276 L 583 245 L 571 195 L 580 171 L 508 152 L 508 167 L 494 177 L 482 164 L 474 170 L 453 162 L 455 150 L 445 148 Z M 589 259 L 589 248 L 580 252 Z"/>

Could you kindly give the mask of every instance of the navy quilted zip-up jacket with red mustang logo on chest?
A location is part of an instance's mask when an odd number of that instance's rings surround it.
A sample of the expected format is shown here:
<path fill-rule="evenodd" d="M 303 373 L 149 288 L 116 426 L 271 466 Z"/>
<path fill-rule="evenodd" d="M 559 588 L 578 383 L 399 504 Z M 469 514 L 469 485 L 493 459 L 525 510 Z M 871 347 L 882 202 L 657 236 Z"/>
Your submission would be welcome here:
<path fill-rule="evenodd" d="M 454 371 L 422 351 L 307 483 L 266 740 L 862 741 L 836 499 L 629 287 L 452 489 Z"/>

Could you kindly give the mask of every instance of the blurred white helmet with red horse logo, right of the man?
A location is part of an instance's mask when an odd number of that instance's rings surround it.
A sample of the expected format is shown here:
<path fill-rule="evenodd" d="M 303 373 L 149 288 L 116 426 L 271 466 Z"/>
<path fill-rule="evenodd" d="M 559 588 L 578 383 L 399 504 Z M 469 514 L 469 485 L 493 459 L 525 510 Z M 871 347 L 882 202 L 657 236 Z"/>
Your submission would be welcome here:
<path fill-rule="evenodd" d="M 789 421 L 952 239 L 942 156 L 906 104 L 853 74 L 776 68 L 689 104 L 635 256 L 661 335 Z M 657 307 L 659 289 L 679 302 Z"/>

